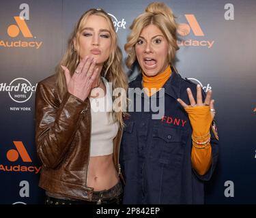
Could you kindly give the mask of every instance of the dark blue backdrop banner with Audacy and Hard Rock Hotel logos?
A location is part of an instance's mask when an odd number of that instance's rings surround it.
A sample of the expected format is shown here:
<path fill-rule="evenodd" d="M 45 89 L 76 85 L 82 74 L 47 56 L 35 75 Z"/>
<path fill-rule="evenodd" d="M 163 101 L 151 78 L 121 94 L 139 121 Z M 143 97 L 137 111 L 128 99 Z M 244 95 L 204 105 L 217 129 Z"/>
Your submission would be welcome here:
<path fill-rule="evenodd" d="M 35 153 L 35 89 L 54 74 L 81 14 L 102 8 L 123 50 L 132 20 L 152 1 L 4 1 L 0 7 L 0 204 L 43 204 Z M 176 0 L 176 67 L 213 91 L 218 166 L 206 204 L 256 204 L 256 1 Z M 20 18 L 22 17 L 22 18 Z M 182 31 L 183 30 L 183 31 Z M 184 31 L 186 30 L 186 31 Z M 129 72 L 132 80 L 137 72 Z"/>

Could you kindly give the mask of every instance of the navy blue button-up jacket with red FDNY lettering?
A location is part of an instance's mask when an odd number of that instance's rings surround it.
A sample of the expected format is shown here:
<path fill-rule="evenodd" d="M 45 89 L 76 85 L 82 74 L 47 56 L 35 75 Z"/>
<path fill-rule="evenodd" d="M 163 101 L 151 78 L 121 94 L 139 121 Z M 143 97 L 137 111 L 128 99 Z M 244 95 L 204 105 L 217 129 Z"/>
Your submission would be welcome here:
<path fill-rule="evenodd" d="M 164 86 L 162 119 L 152 119 L 154 112 L 150 110 L 129 112 L 125 120 L 119 157 L 126 180 L 124 204 L 204 203 L 203 181 L 210 179 L 216 167 L 218 140 L 211 128 L 212 166 L 203 176 L 197 174 L 191 166 L 192 128 L 188 114 L 176 100 L 180 97 L 189 105 L 186 89 L 189 87 L 196 99 L 197 87 L 172 72 Z M 129 87 L 142 89 L 141 80 L 139 74 Z"/>

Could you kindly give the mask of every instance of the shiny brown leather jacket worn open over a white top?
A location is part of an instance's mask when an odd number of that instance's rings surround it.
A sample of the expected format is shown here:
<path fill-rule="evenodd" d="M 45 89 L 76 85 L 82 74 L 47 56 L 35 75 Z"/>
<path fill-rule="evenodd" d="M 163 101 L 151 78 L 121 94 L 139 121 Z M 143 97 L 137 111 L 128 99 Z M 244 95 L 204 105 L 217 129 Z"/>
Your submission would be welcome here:
<path fill-rule="evenodd" d="M 39 186 L 68 198 L 91 201 L 87 187 L 91 136 L 89 99 L 81 101 L 66 93 L 61 101 L 55 76 L 38 83 L 35 95 L 35 142 L 43 163 Z M 119 167 L 122 129 L 114 139 L 113 161 Z"/>

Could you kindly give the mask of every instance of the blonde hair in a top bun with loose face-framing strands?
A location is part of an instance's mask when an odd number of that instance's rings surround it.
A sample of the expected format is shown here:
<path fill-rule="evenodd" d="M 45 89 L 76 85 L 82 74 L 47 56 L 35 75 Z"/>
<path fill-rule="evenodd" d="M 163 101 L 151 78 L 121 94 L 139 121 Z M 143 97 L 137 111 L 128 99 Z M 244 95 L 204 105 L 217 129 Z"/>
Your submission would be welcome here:
<path fill-rule="evenodd" d="M 128 57 L 126 65 L 131 68 L 137 60 L 135 45 L 139 39 L 139 35 L 144 27 L 148 25 L 155 25 L 162 31 L 169 42 L 168 61 L 170 64 L 175 60 L 177 46 L 177 23 L 175 16 L 170 7 L 165 3 L 153 2 L 147 5 L 145 12 L 135 18 L 130 26 L 131 32 L 127 37 L 127 43 L 124 45 Z"/>

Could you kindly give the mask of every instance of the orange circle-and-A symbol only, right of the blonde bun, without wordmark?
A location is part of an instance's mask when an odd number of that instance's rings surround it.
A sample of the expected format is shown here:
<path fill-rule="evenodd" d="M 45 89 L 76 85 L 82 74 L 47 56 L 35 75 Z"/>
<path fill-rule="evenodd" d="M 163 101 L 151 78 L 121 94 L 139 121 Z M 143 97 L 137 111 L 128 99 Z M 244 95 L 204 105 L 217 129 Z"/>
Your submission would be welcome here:
<path fill-rule="evenodd" d="M 188 24 L 181 23 L 178 26 L 177 33 L 182 36 L 188 35 L 190 33 L 190 28 L 193 33 L 197 36 L 204 36 L 203 30 L 201 29 L 199 22 L 197 22 L 197 18 L 195 18 L 194 14 L 185 14 L 186 20 Z"/>

